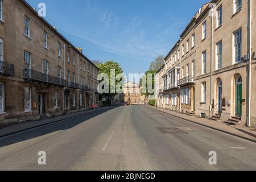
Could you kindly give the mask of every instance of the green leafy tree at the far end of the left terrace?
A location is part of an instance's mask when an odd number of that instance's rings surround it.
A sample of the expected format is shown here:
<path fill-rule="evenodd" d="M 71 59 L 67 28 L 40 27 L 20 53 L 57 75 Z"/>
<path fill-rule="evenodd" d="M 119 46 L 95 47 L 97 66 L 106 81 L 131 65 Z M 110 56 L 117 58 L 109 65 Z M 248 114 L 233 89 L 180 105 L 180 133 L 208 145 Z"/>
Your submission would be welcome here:
<path fill-rule="evenodd" d="M 100 74 L 101 73 L 105 73 L 106 75 L 108 75 L 109 77 L 109 93 L 103 93 L 100 95 L 100 98 L 102 97 L 106 97 L 106 98 L 110 98 L 113 97 L 115 95 L 117 95 L 117 93 L 111 93 L 110 92 L 110 73 L 111 73 L 111 69 L 115 69 L 115 76 L 122 74 L 123 73 L 123 69 L 121 67 L 121 64 L 115 62 L 115 61 L 106 61 L 105 63 L 98 63 L 97 67 L 100 69 Z M 102 80 L 100 80 L 102 81 Z M 124 80 L 115 80 L 115 85 L 117 85 L 118 82 L 120 81 L 124 81 Z"/>

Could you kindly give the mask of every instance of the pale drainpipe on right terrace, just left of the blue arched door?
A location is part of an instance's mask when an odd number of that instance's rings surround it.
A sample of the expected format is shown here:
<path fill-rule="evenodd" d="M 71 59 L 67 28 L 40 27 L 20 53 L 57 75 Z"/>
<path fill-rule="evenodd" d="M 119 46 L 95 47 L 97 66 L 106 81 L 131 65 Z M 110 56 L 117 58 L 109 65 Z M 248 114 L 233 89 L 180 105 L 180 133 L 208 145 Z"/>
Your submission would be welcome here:
<path fill-rule="evenodd" d="M 210 18 L 211 23 L 211 32 L 210 32 L 210 114 L 209 117 L 212 117 L 212 109 L 213 109 L 213 8 L 211 9 L 212 14 Z"/>

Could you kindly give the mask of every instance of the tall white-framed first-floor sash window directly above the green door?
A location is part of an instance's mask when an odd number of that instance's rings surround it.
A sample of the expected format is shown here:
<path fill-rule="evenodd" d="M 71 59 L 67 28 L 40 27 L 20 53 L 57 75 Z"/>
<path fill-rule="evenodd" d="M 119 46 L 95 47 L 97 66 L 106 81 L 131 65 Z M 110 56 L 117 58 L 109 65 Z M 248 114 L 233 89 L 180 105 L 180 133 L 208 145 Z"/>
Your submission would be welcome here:
<path fill-rule="evenodd" d="M 242 30 L 241 28 L 234 32 L 234 62 L 241 61 L 242 55 Z"/>

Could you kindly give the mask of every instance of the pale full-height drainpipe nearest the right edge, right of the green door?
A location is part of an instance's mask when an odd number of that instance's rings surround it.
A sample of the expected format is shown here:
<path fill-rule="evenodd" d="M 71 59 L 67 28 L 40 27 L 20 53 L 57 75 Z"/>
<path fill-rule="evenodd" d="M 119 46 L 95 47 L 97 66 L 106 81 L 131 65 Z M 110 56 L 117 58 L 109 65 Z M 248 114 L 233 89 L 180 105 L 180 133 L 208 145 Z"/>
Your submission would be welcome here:
<path fill-rule="evenodd" d="M 250 56 L 250 59 L 249 59 L 249 110 L 248 110 L 248 123 L 247 123 L 247 126 L 250 127 L 251 126 L 251 26 L 252 26 L 252 1 L 250 1 L 250 23 L 249 23 L 249 56 Z"/>

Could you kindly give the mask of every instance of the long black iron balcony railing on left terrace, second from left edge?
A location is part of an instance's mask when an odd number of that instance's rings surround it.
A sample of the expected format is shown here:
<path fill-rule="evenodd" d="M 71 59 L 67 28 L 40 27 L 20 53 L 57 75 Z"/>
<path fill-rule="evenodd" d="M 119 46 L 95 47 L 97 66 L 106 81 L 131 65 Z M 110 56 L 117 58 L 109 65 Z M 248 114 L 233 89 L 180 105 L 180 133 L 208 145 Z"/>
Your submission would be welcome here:
<path fill-rule="evenodd" d="M 45 82 L 47 84 L 61 85 L 61 86 L 66 85 L 66 81 L 62 78 L 47 75 L 45 73 L 34 71 L 32 69 L 26 69 L 26 68 L 24 69 L 24 78 L 27 80 Z"/>

